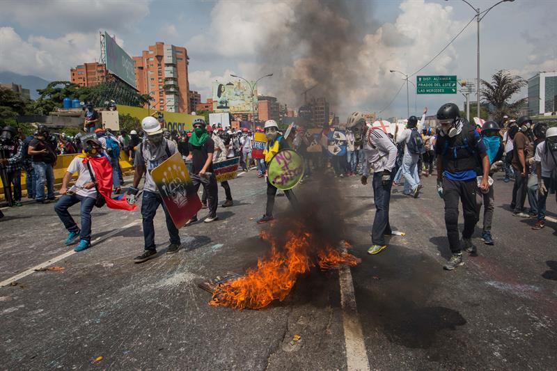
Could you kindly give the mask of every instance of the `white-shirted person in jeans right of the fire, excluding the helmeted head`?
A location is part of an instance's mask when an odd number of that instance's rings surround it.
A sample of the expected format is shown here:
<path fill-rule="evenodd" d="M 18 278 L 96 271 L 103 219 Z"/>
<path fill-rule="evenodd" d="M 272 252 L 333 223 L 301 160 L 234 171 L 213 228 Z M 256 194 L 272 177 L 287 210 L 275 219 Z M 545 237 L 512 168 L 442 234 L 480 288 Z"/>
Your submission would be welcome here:
<path fill-rule="evenodd" d="M 391 235 L 389 223 L 389 203 L 393 187 L 393 168 L 395 167 L 397 149 L 393 141 L 380 127 L 372 127 L 364 136 L 363 150 L 366 151 L 366 164 L 363 164 L 361 184 L 368 184 L 369 169 L 373 170 L 373 200 L 375 203 L 375 219 L 371 228 L 372 246 L 368 254 L 377 254 L 387 245 L 385 236 Z"/>

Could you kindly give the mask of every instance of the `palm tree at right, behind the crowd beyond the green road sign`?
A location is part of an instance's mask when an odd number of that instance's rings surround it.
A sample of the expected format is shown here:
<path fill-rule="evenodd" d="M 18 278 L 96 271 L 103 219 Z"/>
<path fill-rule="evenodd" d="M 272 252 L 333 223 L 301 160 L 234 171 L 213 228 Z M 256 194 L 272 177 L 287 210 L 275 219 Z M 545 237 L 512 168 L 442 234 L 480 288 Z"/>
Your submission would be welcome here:
<path fill-rule="evenodd" d="M 489 103 L 495 108 L 491 110 L 492 118 L 497 123 L 503 121 L 503 116 L 516 116 L 518 110 L 528 98 L 522 98 L 515 102 L 509 103 L 510 98 L 519 93 L 521 88 L 526 86 L 527 82 L 519 76 L 514 76 L 505 70 L 499 70 L 492 75 L 492 82 L 489 83 L 482 80 L 482 90 L 480 96 L 483 102 Z"/>

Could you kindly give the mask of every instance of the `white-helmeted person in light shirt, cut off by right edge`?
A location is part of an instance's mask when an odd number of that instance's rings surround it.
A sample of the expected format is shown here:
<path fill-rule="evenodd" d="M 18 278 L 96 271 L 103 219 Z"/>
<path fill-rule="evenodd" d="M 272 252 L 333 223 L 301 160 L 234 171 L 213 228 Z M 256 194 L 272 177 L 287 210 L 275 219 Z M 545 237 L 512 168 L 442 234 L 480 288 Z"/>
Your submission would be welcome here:
<path fill-rule="evenodd" d="M 535 148 L 535 170 L 538 175 L 538 221 L 533 230 L 545 226 L 545 201 L 550 187 L 557 184 L 557 127 L 550 127 L 545 133 L 545 140 Z"/>

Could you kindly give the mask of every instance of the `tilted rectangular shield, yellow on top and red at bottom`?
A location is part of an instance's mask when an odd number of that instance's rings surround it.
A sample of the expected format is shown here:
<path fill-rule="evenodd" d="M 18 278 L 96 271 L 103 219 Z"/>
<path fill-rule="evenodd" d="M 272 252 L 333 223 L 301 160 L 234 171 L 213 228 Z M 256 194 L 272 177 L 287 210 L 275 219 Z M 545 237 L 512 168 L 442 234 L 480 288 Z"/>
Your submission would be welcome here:
<path fill-rule="evenodd" d="M 151 175 L 174 225 L 182 228 L 186 221 L 201 210 L 201 200 L 191 182 L 182 155 L 175 153 L 152 169 Z"/>

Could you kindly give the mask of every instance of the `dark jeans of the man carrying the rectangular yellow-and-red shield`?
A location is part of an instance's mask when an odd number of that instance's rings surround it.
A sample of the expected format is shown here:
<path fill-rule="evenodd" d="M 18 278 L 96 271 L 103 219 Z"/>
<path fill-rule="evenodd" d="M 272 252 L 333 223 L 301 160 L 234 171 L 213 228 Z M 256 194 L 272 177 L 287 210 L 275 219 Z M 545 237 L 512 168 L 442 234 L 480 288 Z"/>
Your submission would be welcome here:
<path fill-rule="evenodd" d="M 155 218 L 159 205 L 162 205 L 162 210 L 164 210 L 166 229 L 168 230 L 168 235 L 170 235 L 170 243 L 180 244 L 180 232 L 178 232 L 178 228 L 174 226 L 174 222 L 170 214 L 168 214 L 168 210 L 166 210 L 164 203 L 162 203 L 161 195 L 150 191 L 143 191 L 141 216 L 143 217 L 143 239 L 145 239 L 146 250 L 157 251 L 157 245 L 155 245 L 155 226 L 152 223 L 152 219 Z"/>

